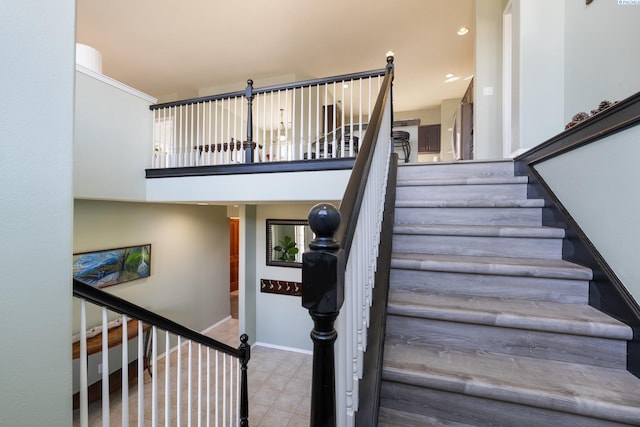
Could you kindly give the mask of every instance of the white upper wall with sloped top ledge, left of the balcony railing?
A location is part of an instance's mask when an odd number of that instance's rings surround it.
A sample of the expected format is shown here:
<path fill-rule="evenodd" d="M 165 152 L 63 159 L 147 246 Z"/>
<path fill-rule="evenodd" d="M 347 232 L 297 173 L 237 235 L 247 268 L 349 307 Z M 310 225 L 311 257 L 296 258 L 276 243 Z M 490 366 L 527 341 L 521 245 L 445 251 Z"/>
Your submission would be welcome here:
<path fill-rule="evenodd" d="M 100 77 L 76 72 L 74 195 L 143 201 L 154 99 Z"/>

